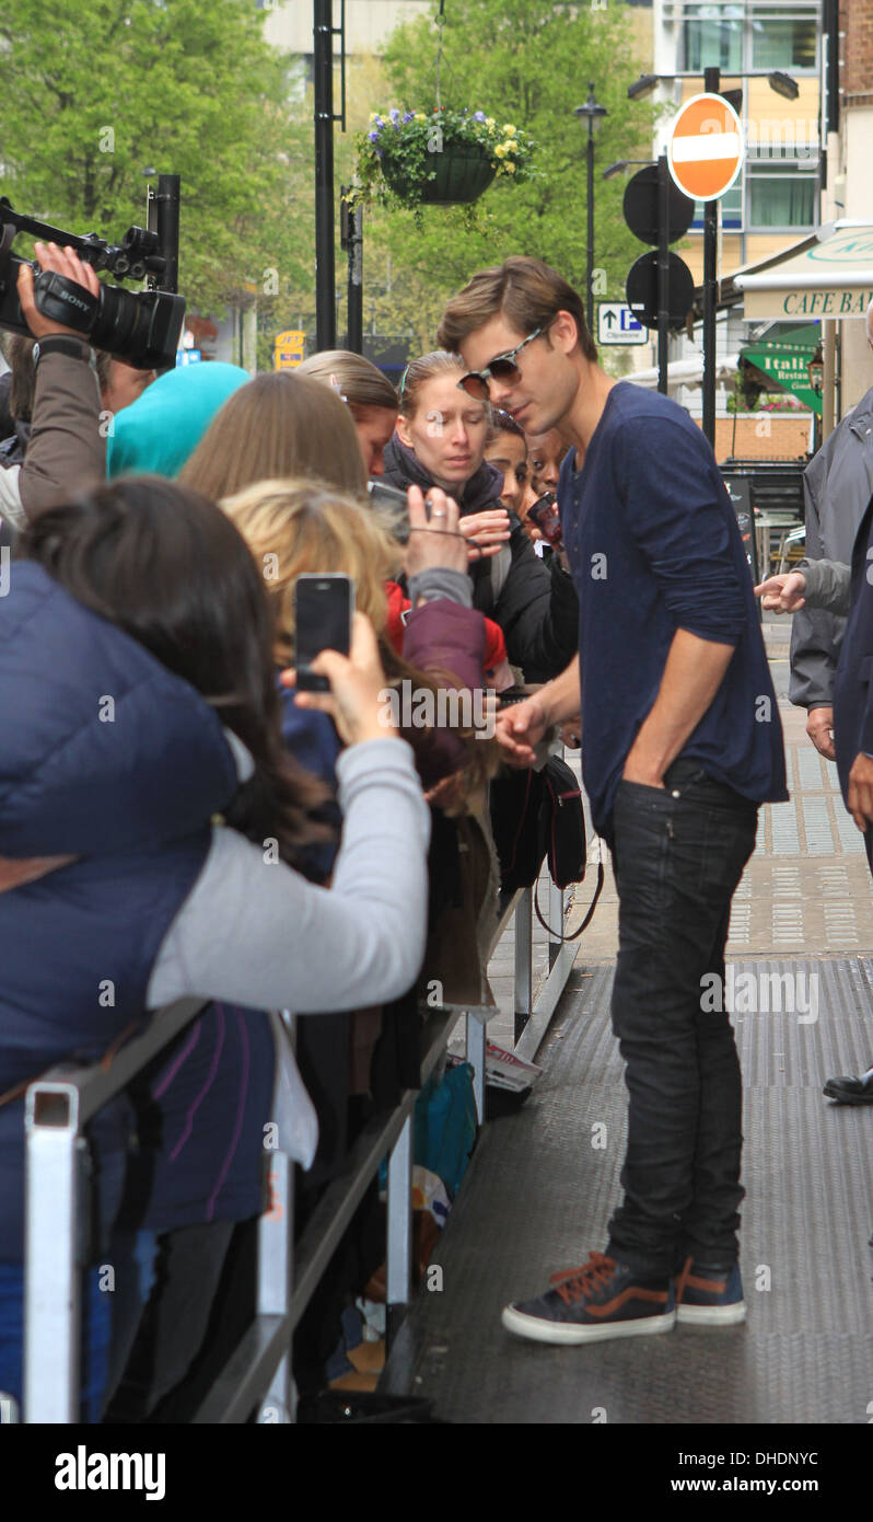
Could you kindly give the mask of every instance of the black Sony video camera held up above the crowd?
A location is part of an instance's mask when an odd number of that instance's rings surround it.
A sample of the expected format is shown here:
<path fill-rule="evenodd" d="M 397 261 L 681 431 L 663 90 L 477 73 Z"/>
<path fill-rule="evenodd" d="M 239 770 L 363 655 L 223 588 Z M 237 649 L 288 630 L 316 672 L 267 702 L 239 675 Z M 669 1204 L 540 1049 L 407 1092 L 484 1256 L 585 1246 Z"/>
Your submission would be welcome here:
<path fill-rule="evenodd" d="M 176 349 L 186 314 L 184 297 L 175 291 L 158 289 L 170 260 L 161 248 L 157 231 L 144 227 L 129 227 L 120 244 L 106 244 L 96 233 L 79 236 L 65 233 L 47 222 L 14 212 L 6 196 L 0 196 L 0 327 L 11 333 L 30 336 L 21 304 L 17 279 L 24 263 L 12 254 L 17 233 L 33 233 L 44 242 L 61 248 L 75 248 L 82 263 L 94 269 L 108 269 L 117 280 L 144 280 L 154 286 L 149 291 L 125 291 L 122 286 L 103 285 L 100 294 L 91 295 L 84 286 L 50 269 L 33 269 L 33 297 L 40 312 L 62 327 L 75 327 L 106 353 L 123 359 L 138 370 L 167 370 L 176 362 Z"/>

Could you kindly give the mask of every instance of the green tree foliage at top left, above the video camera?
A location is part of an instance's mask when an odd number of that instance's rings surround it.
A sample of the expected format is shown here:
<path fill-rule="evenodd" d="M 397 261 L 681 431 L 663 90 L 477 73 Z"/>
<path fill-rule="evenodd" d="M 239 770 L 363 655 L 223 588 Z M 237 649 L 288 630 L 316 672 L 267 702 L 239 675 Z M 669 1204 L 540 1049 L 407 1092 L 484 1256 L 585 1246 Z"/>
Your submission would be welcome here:
<path fill-rule="evenodd" d="M 179 174 L 189 310 L 251 298 L 271 271 L 309 288 L 307 126 L 263 15 L 254 0 L 0 0 L 0 193 L 117 239 L 144 222 L 146 167 Z"/>

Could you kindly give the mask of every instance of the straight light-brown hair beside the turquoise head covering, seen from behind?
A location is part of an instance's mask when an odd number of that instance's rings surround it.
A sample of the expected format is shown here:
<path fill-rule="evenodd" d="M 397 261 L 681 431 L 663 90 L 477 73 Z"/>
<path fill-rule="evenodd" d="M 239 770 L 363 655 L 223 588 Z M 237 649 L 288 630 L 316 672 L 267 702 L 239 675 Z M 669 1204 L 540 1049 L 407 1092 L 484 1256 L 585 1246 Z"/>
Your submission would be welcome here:
<path fill-rule="evenodd" d="M 367 472 L 348 409 L 307 376 L 256 376 L 213 417 L 186 467 L 183 486 L 217 502 L 256 481 L 309 476 L 353 495 Z"/>

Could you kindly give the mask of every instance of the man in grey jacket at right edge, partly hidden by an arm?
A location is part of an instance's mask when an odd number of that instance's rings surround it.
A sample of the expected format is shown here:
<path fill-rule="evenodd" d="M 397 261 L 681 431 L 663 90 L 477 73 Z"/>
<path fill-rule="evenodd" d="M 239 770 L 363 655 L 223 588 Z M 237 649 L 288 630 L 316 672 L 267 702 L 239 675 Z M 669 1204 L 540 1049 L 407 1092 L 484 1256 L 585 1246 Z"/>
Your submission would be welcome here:
<path fill-rule="evenodd" d="M 873 301 L 867 307 L 867 342 L 873 349 Z M 873 495 L 873 388 L 843 419 L 803 473 L 806 559 L 852 560 L 858 525 Z M 806 708 L 806 734 L 815 749 L 833 750 L 833 673 L 846 619 L 823 607 L 803 607 L 791 630 L 788 696 Z"/>

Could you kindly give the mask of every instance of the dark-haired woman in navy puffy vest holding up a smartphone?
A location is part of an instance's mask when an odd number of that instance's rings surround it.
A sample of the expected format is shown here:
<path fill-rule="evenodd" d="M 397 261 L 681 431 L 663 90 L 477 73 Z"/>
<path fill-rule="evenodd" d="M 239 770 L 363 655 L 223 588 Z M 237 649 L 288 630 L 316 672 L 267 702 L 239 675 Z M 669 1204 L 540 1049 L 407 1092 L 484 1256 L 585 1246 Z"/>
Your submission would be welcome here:
<path fill-rule="evenodd" d="M 356 615 L 350 654 L 313 662 L 332 685 L 319 706 L 345 741 L 330 892 L 295 871 L 318 791 L 278 737 L 262 577 L 211 502 L 131 478 L 40 514 L 20 556 L 0 600 L 0 708 L 15 715 L 0 731 L 0 858 L 15 863 L 0 874 L 0 1390 L 18 1400 L 27 1082 L 68 1058 L 96 1061 L 151 1011 L 195 995 L 245 1006 L 242 1049 L 263 1087 L 272 1064 L 256 1058 L 274 1036 L 254 1011 L 351 1009 L 415 979 L 430 828 L 412 752 L 379 702 L 376 636 Z M 99 998 L 110 985 L 113 998 Z M 230 1040 L 236 1012 L 216 1009 Z M 262 1154 L 259 1084 L 240 1090 L 221 1157 L 198 1164 L 213 1170 L 211 1219 L 231 1158 Z M 280 1146 L 306 1161 L 315 1114 L 303 1085 L 295 1093 L 295 1135 Z M 94 1262 L 106 1262 L 134 1129 L 126 1097 L 88 1129 Z M 179 1157 L 196 1172 L 192 1152 Z M 193 1195 L 207 1187 L 187 1183 Z M 96 1420 L 116 1297 L 91 1291 Z"/>

